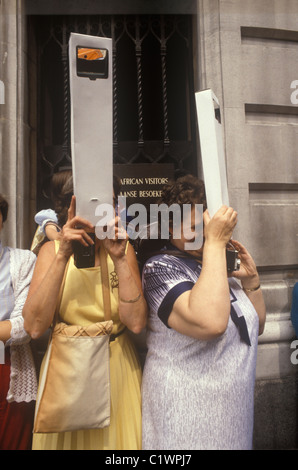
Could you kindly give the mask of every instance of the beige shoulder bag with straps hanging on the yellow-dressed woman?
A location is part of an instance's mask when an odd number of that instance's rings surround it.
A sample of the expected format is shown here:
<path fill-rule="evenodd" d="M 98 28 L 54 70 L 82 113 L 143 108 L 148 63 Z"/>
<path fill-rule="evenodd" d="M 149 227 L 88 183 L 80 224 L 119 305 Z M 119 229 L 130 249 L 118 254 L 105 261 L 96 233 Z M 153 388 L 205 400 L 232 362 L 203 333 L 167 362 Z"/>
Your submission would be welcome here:
<path fill-rule="evenodd" d="M 39 381 L 35 433 L 98 429 L 110 424 L 109 340 L 113 321 L 103 249 L 100 257 L 105 321 L 86 327 L 61 322 L 54 326 Z"/>

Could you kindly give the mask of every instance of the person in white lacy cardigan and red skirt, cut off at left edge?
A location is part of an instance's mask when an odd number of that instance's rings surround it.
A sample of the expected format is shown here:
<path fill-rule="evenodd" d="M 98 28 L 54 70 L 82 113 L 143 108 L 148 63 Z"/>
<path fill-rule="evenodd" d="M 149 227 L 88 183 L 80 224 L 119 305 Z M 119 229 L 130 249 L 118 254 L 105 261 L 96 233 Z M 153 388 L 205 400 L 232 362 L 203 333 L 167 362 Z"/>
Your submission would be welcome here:
<path fill-rule="evenodd" d="M 0 195 L 0 233 L 7 215 L 8 202 Z M 22 309 L 35 260 L 31 251 L 0 241 L 0 348 L 5 345 L 5 361 L 0 363 L 1 450 L 31 448 L 37 379 Z"/>

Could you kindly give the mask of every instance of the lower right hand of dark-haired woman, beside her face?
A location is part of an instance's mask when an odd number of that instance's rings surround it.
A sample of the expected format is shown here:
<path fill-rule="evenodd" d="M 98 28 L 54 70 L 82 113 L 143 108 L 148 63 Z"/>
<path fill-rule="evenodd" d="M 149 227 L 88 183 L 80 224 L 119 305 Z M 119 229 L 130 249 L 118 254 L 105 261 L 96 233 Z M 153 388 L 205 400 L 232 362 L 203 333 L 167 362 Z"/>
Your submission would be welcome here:
<path fill-rule="evenodd" d="M 239 279 L 243 289 L 254 289 L 260 285 L 257 267 L 247 249 L 238 241 L 230 240 L 233 247 L 239 252 L 240 269 L 233 271 L 232 277 Z"/>

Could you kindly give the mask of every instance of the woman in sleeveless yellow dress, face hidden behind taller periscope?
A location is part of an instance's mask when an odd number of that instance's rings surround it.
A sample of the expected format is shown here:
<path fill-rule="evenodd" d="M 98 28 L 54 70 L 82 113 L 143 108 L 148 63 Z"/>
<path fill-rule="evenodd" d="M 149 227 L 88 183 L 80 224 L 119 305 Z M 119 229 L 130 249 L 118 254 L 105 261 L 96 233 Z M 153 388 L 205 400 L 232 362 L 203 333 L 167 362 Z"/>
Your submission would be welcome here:
<path fill-rule="evenodd" d="M 116 216 L 112 221 L 115 230 L 113 239 L 95 238 L 95 266 L 77 269 L 73 260 L 73 242 L 83 246 L 93 244 L 88 232 L 94 227 L 75 215 L 73 196 L 59 241 L 46 243 L 39 252 L 23 310 L 26 330 L 32 338 L 40 337 L 53 320 L 59 288 L 70 259 L 61 300 L 61 320 L 82 325 L 103 321 L 99 251 L 104 245 L 108 253 L 114 321 L 112 333 L 115 336 L 114 341 L 110 342 L 111 423 L 98 430 L 34 434 L 33 449 L 141 448 L 141 368 L 128 330 L 139 333 L 145 327 L 147 304 L 135 252 L 127 237 L 123 234 L 119 236 L 123 229 L 118 223 L 119 217 Z M 81 228 L 76 228 L 78 226 Z"/>

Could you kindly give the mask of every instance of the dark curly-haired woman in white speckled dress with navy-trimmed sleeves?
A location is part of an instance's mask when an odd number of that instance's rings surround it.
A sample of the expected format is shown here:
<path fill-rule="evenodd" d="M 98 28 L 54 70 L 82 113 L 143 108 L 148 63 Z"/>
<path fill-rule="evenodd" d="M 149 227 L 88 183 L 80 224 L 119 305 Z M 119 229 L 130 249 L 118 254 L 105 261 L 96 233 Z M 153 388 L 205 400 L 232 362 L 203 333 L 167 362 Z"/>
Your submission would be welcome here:
<path fill-rule="evenodd" d="M 206 209 L 203 182 L 178 178 L 164 189 L 161 202 L 191 206 L 195 237 L 202 222 L 197 204 Z M 202 247 L 186 250 L 190 234 L 173 236 L 177 227 L 170 213 L 170 241 L 148 254 L 144 265 L 145 450 L 252 447 L 257 343 L 266 315 L 260 280 L 251 255 L 236 241 L 240 269 L 227 273 L 236 211 L 223 206 L 210 218 L 205 210 L 203 223 Z"/>

